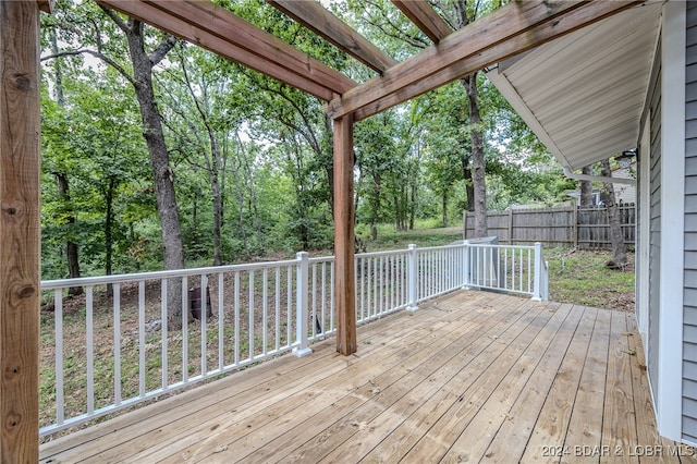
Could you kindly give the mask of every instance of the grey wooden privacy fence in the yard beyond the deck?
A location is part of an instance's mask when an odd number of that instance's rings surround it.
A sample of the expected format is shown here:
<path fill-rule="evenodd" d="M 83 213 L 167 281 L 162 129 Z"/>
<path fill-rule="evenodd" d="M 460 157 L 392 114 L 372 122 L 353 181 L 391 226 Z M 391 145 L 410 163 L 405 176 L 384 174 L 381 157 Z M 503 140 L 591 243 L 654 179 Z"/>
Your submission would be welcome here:
<path fill-rule="evenodd" d="M 541 242 L 546 246 L 573 246 L 583 249 L 610 248 L 610 217 L 606 207 L 525 208 L 489 211 L 489 235 L 499 243 L 529 245 Z M 636 240 L 635 205 L 620 206 L 624 241 L 634 246 Z M 474 237 L 475 217 L 465 211 L 465 239 Z"/>

